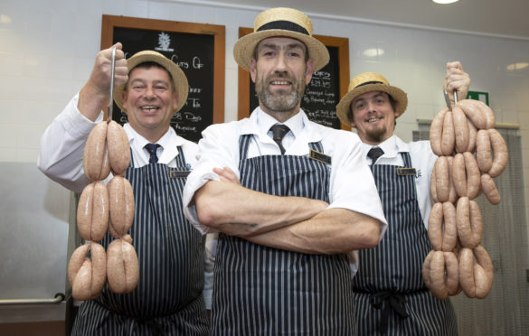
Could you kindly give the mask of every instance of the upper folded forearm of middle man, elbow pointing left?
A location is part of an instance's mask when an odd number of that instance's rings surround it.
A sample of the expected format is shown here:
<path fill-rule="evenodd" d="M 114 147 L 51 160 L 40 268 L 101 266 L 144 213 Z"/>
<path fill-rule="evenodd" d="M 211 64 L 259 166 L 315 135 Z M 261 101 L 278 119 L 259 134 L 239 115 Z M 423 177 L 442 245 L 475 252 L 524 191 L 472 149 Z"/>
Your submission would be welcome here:
<path fill-rule="evenodd" d="M 310 219 L 326 209 L 325 201 L 273 196 L 231 182 L 210 181 L 195 192 L 203 225 L 239 237 L 269 232 Z"/>

